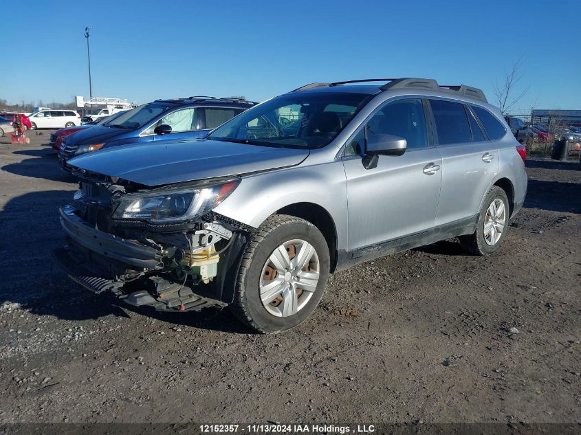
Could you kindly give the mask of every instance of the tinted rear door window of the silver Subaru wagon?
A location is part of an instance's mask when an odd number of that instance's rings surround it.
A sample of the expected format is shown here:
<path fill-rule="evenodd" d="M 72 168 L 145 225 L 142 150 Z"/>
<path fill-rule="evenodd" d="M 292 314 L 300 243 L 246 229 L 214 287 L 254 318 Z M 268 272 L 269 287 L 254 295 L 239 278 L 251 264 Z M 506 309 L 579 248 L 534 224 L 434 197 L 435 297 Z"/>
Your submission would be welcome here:
<path fill-rule="evenodd" d="M 472 142 L 470 125 L 463 104 L 443 100 L 430 100 L 438 142 L 440 145 Z"/>

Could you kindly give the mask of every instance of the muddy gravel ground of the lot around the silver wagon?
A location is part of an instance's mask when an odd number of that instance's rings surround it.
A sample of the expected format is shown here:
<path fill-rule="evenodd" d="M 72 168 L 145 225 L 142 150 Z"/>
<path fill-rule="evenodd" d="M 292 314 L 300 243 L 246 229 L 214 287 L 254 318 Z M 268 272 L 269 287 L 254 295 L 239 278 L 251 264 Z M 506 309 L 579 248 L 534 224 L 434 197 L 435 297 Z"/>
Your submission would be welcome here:
<path fill-rule="evenodd" d="M 76 184 L 31 133 L 0 138 L 0 423 L 581 421 L 578 164 L 527 162 L 495 256 L 444 241 L 365 263 L 301 326 L 256 335 L 69 282 L 51 252 Z"/>

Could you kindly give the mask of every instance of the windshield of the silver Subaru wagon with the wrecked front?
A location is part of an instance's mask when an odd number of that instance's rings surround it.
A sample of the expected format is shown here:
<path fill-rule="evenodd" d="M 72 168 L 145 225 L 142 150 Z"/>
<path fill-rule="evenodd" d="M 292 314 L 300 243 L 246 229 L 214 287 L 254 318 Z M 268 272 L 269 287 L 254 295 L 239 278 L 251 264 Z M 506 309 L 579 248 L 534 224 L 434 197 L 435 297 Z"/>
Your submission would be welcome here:
<path fill-rule="evenodd" d="M 344 129 L 373 96 L 366 93 L 288 93 L 226 122 L 210 140 L 282 148 L 321 148 Z"/>

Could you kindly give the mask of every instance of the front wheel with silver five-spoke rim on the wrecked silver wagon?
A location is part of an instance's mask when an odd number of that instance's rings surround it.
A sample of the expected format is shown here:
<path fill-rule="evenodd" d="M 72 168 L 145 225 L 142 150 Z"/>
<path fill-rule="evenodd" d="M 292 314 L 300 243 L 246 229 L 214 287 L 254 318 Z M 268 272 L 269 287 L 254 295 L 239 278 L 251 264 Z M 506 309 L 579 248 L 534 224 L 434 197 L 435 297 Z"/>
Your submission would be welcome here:
<path fill-rule="evenodd" d="M 232 312 L 261 333 L 293 328 L 322 298 L 329 265 L 329 248 L 317 227 L 295 216 L 270 216 L 250 236 Z"/>

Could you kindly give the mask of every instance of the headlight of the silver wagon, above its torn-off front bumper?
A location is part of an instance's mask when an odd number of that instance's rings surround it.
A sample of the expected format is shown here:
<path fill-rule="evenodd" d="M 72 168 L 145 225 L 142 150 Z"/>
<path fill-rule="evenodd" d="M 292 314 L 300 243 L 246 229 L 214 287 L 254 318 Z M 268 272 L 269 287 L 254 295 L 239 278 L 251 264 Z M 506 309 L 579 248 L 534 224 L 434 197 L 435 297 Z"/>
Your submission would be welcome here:
<path fill-rule="evenodd" d="M 193 219 L 215 208 L 238 183 L 237 180 L 204 188 L 126 195 L 117 201 L 113 219 L 138 219 L 154 223 Z"/>

